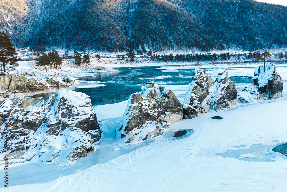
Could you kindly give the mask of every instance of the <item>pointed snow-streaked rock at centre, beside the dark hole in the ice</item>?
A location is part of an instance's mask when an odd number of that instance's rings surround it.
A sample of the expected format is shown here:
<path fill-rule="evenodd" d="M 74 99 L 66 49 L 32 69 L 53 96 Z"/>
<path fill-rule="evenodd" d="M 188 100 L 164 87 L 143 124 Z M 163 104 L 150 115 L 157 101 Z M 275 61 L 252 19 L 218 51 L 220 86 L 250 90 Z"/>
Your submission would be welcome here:
<path fill-rule="evenodd" d="M 149 82 L 132 94 L 116 138 L 124 143 L 144 141 L 161 135 L 183 119 L 183 107 L 171 90 Z"/>

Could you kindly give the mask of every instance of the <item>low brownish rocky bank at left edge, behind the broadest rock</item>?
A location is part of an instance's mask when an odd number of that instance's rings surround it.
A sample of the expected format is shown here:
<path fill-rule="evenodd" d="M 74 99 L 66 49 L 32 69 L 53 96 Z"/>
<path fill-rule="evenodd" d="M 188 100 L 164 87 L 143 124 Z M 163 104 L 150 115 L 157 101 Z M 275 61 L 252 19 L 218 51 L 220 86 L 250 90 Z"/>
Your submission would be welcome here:
<path fill-rule="evenodd" d="M 33 93 L 53 92 L 67 88 L 76 81 L 66 75 L 15 72 L 0 75 L 0 100 Z"/>

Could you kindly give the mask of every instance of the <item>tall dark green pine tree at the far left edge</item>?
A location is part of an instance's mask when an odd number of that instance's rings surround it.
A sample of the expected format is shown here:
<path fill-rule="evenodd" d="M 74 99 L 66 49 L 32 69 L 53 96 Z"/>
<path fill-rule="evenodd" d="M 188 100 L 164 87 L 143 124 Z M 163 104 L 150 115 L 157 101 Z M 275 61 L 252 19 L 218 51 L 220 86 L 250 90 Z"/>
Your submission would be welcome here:
<path fill-rule="evenodd" d="M 13 47 L 10 37 L 6 33 L 0 32 L 0 65 L 1 65 L 1 73 L 2 66 L 3 71 L 6 73 L 5 65 L 11 64 L 14 66 L 18 66 L 16 59 L 17 52 Z"/>

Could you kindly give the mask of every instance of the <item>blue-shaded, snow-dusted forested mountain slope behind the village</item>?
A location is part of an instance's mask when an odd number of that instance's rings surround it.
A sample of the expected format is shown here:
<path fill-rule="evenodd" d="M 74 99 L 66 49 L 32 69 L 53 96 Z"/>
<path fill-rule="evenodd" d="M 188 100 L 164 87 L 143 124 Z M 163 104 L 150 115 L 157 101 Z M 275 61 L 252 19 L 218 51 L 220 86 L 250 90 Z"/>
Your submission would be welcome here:
<path fill-rule="evenodd" d="M 0 16 L 0 29 L 17 47 L 145 52 L 287 45 L 287 7 L 253 0 L 27 0 L 27 6 L 23 18 Z"/>

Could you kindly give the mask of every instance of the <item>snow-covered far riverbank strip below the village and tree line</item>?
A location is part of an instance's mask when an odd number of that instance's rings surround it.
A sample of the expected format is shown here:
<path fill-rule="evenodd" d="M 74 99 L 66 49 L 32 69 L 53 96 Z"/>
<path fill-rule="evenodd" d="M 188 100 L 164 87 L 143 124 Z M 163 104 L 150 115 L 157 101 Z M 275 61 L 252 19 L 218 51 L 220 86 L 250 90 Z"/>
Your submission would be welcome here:
<path fill-rule="evenodd" d="M 267 63 L 267 62 L 266 62 Z M 34 61 L 20 61 L 18 62 L 19 66 L 16 68 L 18 70 L 39 70 L 39 67 L 35 65 Z M 275 62 L 276 67 L 286 67 L 287 63 L 284 61 Z M 201 68 L 246 68 L 251 67 L 255 68 L 259 65 L 263 65 L 263 62 L 236 62 L 232 61 L 230 63 L 218 61 L 214 64 L 212 62 L 199 62 Z M 121 68 L 121 67 L 142 67 L 142 66 L 166 66 L 172 67 L 170 69 L 194 69 L 197 67 L 196 62 L 152 62 L 150 59 L 141 58 L 135 59 L 135 62 L 128 62 L 126 60 L 118 60 L 115 58 L 101 58 L 96 60 L 91 58 L 91 63 L 88 64 L 87 68 L 84 64 L 80 67 L 77 67 L 73 59 L 63 60 L 63 64 L 60 66 L 61 69 L 48 68 L 48 71 L 51 73 L 61 73 L 68 75 L 70 77 L 78 76 L 79 73 L 91 73 L 91 72 L 105 72 L 113 71 L 112 68 Z M 42 69 L 43 70 L 43 69 Z M 168 72 L 168 71 L 167 71 Z M 253 71 L 254 72 L 254 71 Z"/>

